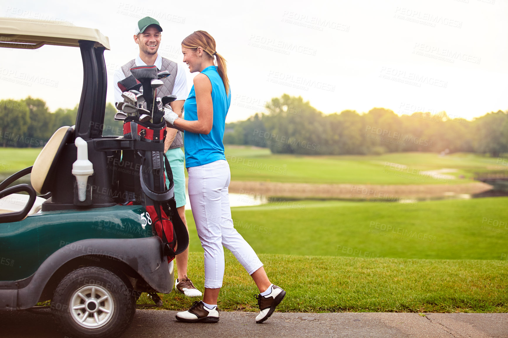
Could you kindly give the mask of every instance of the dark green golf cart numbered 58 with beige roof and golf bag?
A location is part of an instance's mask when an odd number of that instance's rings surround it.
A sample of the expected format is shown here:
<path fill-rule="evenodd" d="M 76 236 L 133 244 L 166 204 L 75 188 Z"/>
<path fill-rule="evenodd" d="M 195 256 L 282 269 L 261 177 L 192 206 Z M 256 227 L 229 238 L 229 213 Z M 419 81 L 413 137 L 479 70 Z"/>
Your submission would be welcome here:
<path fill-rule="evenodd" d="M 165 124 L 131 116 L 123 137 L 102 135 L 109 40 L 99 30 L 0 18 L 0 41 L 79 47 L 83 61 L 75 126 L 56 130 L 33 166 L 0 183 L 0 310 L 51 300 L 66 335 L 118 336 L 141 292 L 172 291 L 172 259 L 188 245 L 168 164 L 165 184 Z M 27 174 L 31 184 L 11 186 Z"/>

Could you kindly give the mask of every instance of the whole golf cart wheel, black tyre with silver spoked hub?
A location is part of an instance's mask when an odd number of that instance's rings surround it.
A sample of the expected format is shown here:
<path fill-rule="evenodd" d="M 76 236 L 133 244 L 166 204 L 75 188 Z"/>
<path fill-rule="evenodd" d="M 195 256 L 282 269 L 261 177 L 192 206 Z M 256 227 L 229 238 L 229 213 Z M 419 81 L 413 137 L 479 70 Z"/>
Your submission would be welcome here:
<path fill-rule="evenodd" d="M 101 267 L 82 267 L 64 277 L 51 299 L 59 328 L 71 337 L 120 335 L 136 312 L 130 283 Z"/>

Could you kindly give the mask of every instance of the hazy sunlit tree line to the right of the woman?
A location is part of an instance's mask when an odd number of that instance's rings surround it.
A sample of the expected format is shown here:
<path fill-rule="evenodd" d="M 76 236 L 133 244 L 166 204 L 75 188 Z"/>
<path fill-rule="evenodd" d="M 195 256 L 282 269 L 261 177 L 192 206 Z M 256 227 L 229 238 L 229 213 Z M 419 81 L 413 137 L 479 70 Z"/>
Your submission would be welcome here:
<path fill-rule="evenodd" d="M 267 113 L 228 123 L 224 143 L 306 155 L 460 151 L 498 157 L 508 153 L 508 111 L 472 121 L 446 112 L 399 116 L 385 108 L 325 115 L 302 97 L 287 94 L 272 98 L 265 108 Z"/>

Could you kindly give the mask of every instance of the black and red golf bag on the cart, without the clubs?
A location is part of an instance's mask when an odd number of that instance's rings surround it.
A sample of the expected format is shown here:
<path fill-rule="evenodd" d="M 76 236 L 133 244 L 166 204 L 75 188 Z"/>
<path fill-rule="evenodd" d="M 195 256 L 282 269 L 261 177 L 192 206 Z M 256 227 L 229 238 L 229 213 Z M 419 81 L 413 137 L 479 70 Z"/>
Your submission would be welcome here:
<path fill-rule="evenodd" d="M 123 124 L 124 139 L 164 143 L 165 136 L 165 121 L 155 125 L 126 118 Z M 121 181 L 124 182 L 122 190 L 131 192 L 127 194 L 131 200 L 123 203 L 145 207 L 146 223 L 151 224 L 152 229 L 163 240 L 164 254 L 168 256 L 168 261 L 173 260 L 175 255 L 187 248 L 188 232 L 176 210 L 173 174 L 166 155 L 162 151 L 124 150 L 121 161 L 123 163 L 120 167 L 130 168 L 129 171 L 121 173 Z M 166 187 L 165 175 L 168 177 L 169 187 Z"/>

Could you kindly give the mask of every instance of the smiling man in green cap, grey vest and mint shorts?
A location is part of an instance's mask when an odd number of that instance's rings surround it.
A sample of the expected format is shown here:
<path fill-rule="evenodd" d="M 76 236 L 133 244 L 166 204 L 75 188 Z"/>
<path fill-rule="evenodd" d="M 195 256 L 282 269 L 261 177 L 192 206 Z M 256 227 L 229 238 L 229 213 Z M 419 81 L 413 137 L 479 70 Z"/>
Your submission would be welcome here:
<path fill-rule="evenodd" d="M 164 85 L 157 89 L 157 97 L 166 95 L 176 95 L 176 100 L 170 103 L 174 112 L 181 116 L 183 103 L 188 96 L 187 80 L 185 70 L 176 62 L 157 54 L 158 47 L 161 43 L 162 27 L 157 20 L 149 16 L 138 21 L 134 32 L 134 42 L 139 46 L 139 55 L 119 67 L 114 74 L 115 102 L 123 101 L 121 97 L 122 91 L 118 88 L 118 81 L 131 76 L 130 69 L 140 65 L 156 65 L 159 71 L 169 71 L 171 75 L 163 79 Z M 184 154 L 181 150 L 183 147 L 182 133 L 174 128 L 167 128 L 166 141 L 164 151 L 171 165 L 174 180 L 175 201 L 178 214 L 185 226 L 185 173 L 184 173 Z M 167 178 L 166 178 L 167 180 Z M 169 182 L 167 182 L 169 184 Z M 192 281 L 187 278 L 187 257 L 188 248 L 181 254 L 176 256 L 176 267 L 178 271 L 178 279 L 175 282 L 177 292 L 182 292 L 190 297 L 199 297 L 201 291 L 196 289 Z M 155 299 L 155 295 L 154 300 Z M 158 299 L 157 299 L 158 300 Z M 157 302 L 156 300 L 156 302 Z M 161 301 L 162 305 L 162 301 Z"/>

